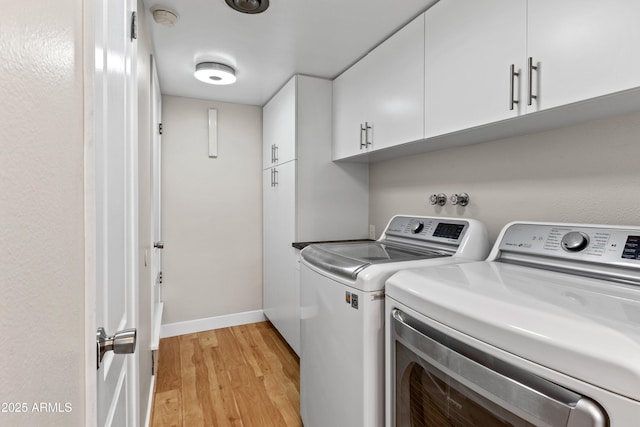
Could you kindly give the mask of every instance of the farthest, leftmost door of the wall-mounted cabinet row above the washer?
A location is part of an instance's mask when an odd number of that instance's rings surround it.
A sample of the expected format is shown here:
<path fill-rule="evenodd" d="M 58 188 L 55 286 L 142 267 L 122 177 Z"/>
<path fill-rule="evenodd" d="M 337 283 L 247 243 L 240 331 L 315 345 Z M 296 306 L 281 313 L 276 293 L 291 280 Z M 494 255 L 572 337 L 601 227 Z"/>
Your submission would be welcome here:
<path fill-rule="evenodd" d="M 366 121 L 368 109 L 367 71 L 364 64 L 357 62 L 333 81 L 334 160 L 366 151 L 361 146 L 360 126 Z"/>

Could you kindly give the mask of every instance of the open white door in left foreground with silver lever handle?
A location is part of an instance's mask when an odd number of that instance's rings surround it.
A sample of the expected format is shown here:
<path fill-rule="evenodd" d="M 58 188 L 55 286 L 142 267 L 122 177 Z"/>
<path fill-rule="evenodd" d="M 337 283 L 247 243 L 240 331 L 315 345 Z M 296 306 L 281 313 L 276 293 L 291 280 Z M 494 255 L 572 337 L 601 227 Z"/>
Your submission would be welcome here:
<path fill-rule="evenodd" d="M 136 2 L 96 0 L 94 5 L 94 323 L 95 330 L 103 327 L 112 336 L 137 323 L 137 87 L 131 37 Z M 138 425 L 136 356 L 108 351 L 95 375 L 97 425 Z"/>

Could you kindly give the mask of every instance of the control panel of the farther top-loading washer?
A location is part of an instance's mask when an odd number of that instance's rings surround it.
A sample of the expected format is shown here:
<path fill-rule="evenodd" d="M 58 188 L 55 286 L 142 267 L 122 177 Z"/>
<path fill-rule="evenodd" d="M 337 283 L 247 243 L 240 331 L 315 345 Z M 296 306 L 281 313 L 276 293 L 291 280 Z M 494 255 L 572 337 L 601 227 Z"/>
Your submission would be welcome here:
<path fill-rule="evenodd" d="M 385 234 L 411 239 L 414 244 L 416 241 L 459 244 L 468 227 L 469 222 L 464 220 L 396 216 Z"/>

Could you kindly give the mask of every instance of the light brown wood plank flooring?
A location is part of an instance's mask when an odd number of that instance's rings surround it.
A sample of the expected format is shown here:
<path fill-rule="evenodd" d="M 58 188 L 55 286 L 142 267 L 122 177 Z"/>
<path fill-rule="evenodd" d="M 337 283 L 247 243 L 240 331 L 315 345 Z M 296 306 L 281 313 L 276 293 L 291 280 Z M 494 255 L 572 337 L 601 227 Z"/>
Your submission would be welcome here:
<path fill-rule="evenodd" d="M 269 322 L 160 340 L 153 427 L 300 427 L 300 361 Z"/>

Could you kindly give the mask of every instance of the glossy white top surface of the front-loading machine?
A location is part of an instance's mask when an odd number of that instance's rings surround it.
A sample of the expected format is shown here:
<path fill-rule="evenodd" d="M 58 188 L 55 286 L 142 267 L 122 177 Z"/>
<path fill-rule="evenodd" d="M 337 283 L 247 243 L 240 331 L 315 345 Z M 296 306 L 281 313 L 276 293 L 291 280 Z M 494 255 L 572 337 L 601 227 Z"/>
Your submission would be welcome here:
<path fill-rule="evenodd" d="M 499 262 L 401 271 L 387 296 L 539 365 L 640 400 L 640 288 Z"/>

